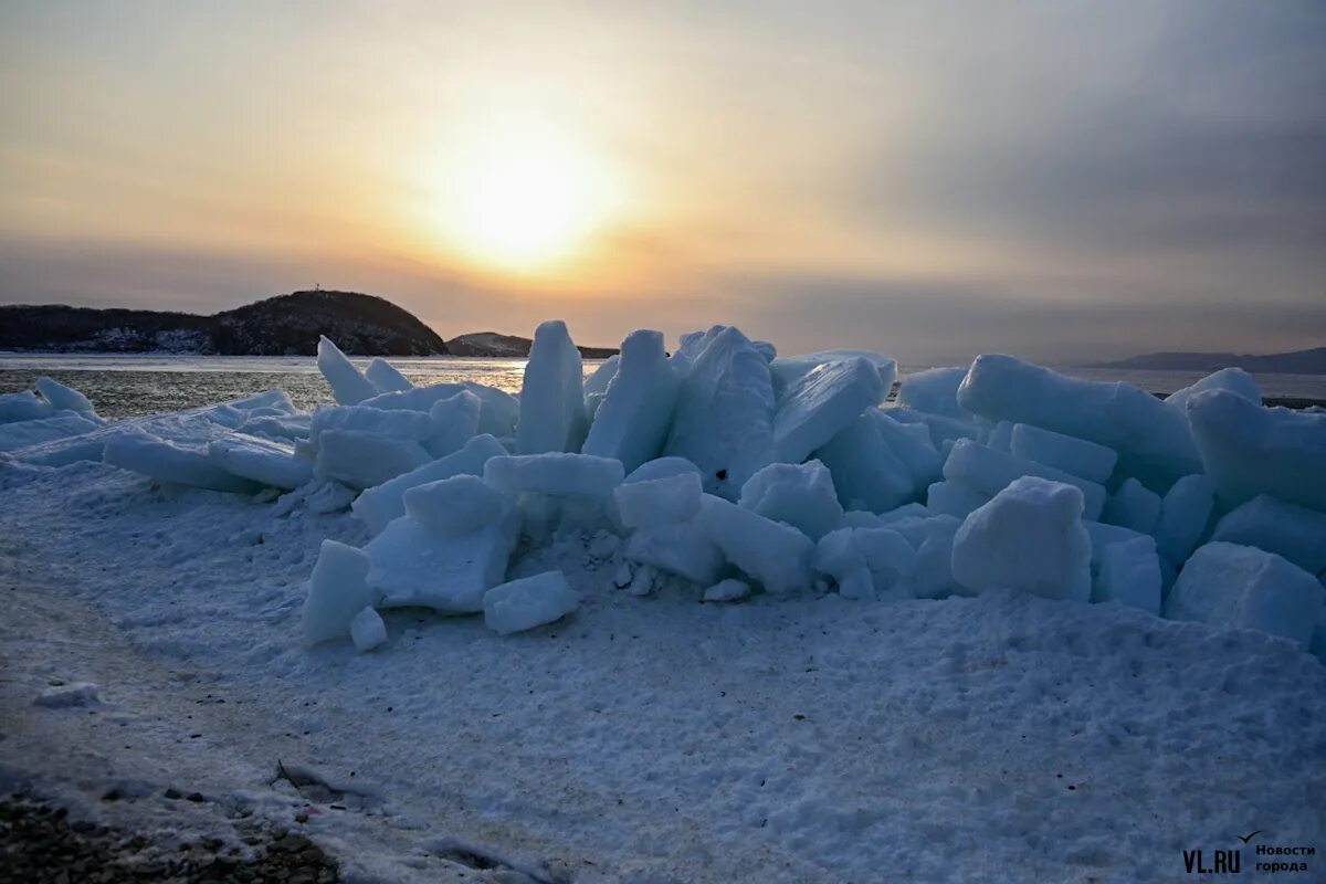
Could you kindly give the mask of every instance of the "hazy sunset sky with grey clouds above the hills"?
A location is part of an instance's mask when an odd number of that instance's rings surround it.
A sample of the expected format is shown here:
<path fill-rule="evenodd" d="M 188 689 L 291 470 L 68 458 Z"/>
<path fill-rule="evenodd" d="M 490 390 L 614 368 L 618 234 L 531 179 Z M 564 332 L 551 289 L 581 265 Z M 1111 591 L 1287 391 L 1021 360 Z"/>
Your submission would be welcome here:
<path fill-rule="evenodd" d="M 1326 4 L 0 5 L 0 304 L 1326 345 Z"/>

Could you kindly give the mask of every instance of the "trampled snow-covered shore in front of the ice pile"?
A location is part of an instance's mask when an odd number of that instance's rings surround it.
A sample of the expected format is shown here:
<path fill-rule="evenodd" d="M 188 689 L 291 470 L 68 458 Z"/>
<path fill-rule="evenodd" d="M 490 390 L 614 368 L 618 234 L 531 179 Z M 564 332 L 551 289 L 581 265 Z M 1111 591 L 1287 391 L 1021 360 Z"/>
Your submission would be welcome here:
<path fill-rule="evenodd" d="M 1326 668 L 1261 634 L 1004 594 L 642 602 L 582 555 L 548 632 L 400 611 L 375 655 L 309 651 L 302 583 L 347 516 L 93 464 L 4 494 L 5 778 L 98 814 L 113 785 L 210 795 L 159 820 L 186 832 L 312 806 L 387 880 L 447 880 L 448 839 L 549 880 L 1126 881 L 1326 838 Z M 34 706 L 57 679 L 101 702 Z M 304 798 L 277 761 L 363 794 Z"/>

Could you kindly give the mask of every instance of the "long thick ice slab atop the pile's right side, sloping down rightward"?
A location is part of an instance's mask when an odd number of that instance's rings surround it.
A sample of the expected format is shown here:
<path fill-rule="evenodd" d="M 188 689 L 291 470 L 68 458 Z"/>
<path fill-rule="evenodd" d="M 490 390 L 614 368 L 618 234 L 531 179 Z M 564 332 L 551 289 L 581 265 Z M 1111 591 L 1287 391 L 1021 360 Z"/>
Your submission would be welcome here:
<path fill-rule="evenodd" d="M 983 355 L 957 388 L 957 402 L 991 421 L 1034 424 L 1119 453 L 1119 465 L 1155 492 L 1201 472 L 1177 410 L 1127 383 L 1069 378 L 1013 357 Z"/>

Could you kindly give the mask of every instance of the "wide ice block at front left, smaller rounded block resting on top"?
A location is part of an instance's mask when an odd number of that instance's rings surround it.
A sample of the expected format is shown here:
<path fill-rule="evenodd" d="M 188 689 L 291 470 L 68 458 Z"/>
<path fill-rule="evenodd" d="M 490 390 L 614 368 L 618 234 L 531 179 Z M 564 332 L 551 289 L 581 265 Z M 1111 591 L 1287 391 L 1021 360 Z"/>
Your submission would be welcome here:
<path fill-rule="evenodd" d="M 483 611 L 484 592 L 501 583 L 518 535 L 514 512 L 456 535 L 436 534 L 402 516 L 363 547 L 371 559 L 369 586 L 382 595 L 381 607 Z"/>

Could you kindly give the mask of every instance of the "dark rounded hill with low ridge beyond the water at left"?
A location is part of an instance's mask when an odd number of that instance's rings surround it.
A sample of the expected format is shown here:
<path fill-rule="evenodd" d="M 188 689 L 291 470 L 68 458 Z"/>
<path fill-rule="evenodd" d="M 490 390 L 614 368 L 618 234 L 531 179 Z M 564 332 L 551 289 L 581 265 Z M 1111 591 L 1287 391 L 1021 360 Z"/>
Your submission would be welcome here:
<path fill-rule="evenodd" d="M 210 317 L 65 305 L 0 306 L 0 350 L 313 355 L 318 335 L 361 355 L 447 355 L 414 314 L 357 292 L 294 292 Z"/>

